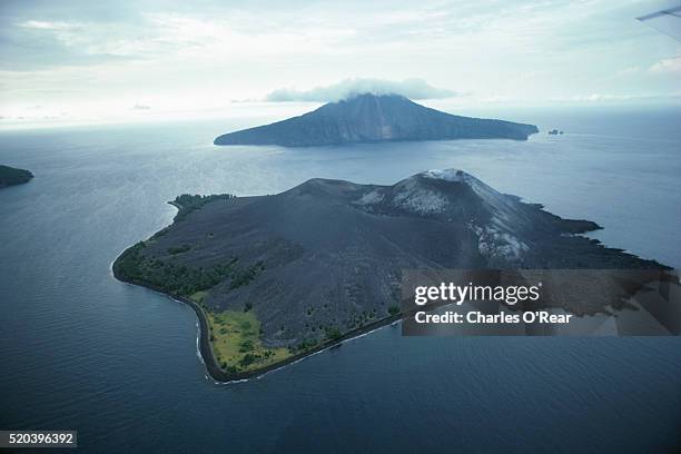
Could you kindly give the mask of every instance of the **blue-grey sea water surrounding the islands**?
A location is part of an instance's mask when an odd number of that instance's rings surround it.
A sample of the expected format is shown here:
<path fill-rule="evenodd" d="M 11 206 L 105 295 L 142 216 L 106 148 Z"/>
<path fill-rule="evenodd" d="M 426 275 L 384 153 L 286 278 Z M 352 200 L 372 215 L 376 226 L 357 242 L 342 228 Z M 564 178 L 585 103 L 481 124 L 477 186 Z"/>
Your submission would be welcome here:
<path fill-rule="evenodd" d="M 681 267 L 681 111 L 519 111 L 526 142 L 221 148 L 236 124 L 0 132 L 0 428 L 78 430 L 81 452 L 677 452 L 679 338 L 403 338 L 397 327 L 218 385 L 191 309 L 112 278 L 182 193 L 462 168 L 606 245 Z M 240 126 L 240 125 L 239 125 Z"/>

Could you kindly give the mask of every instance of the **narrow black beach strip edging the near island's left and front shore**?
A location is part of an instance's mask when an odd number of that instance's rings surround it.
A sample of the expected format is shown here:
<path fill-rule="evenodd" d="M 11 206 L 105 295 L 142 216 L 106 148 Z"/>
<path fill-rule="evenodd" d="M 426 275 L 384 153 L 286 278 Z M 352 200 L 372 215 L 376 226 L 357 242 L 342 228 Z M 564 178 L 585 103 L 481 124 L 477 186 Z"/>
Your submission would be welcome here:
<path fill-rule="evenodd" d="M 127 249 L 126 249 L 127 250 Z M 125 253 L 125 251 L 124 251 Z M 122 253 L 121 253 L 122 254 Z M 120 257 L 120 255 L 119 255 Z M 116 260 L 118 260 L 118 257 L 116 258 Z M 333 339 L 333 340 L 326 340 L 323 342 L 322 344 L 315 346 L 314 348 L 303 352 L 303 353 L 297 353 L 295 355 L 292 355 L 289 357 L 287 357 L 286 359 L 283 359 L 278 363 L 273 363 L 269 364 L 265 367 L 260 367 L 258 369 L 254 369 L 254 371 L 247 371 L 247 372 L 238 372 L 238 373 L 228 373 L 223 371 L 223 368 L 218 365 L 217 359 L 215 358 L 215 353 L 213 352 L 213 346 L 210 345 L 210 330 L 208 328 L 208 320 L 206 318 L 206 314 L 204 313 L 204 309 L 195 302 L 193 302 L 189 298 L 186 298 L 184 296 L 179 296 L 179 295 L 174 295 L 174 294 L 168 294 L 166 292 L 164 292 L 162 289 L 147 284 L 147 283 L 142 283 L 139 280 L 135 280 L 135 279 L 127 279 L 125 277 L 122 277 L 117 270 L 116 267 L 114 266 L 114 264 L 116 264 L 116 260 L 114 260 L 114 263 L 111 264 L 111 272 L 114 274 L 114 277 L 121 282 L 121 283 L 126 283 L 126 284 L 131 284 L 131 285 L 137 285 L 139 287 L 145 287 L 148 288 L 150 290 L 154 290 L 156 293 L 159 293 L 161 295 L 165 295 L 171 299 L 175 299 L 177 302 L 180 303 L 185 303 L 187 304 L 189 307 L 191 307 L 194 309 L 194 312 L 196 313 L 196 316 L 198 318 L 198 323 L 199 323 L 199 334 L 198 334 L 198 349 L 203 359 L 204 365 L 206 366 L 206 371 L 208 372 L 208 375 L 210 376 L 210 378 L 213 378 L 216 383 L 218 384 L 227 384 L 227 383 L 235 383 L 235 382 L 244 382 L 244 381 L 248 381 L 248 379 L 253 379 L 253 378 L 258 378 L 267 373 L 277 371 L 279 368 L 283 368 L 285 366 L 288 366 L 290 364 L 297 363 L 299 361 L 303 361 L 309 356 L 313 356 L 317 353 L 320 353 L 325 349 L 332 348 L 334 346 L 337 346 L 342 343 L 344 343 L 345 340 L 349 340 L 359 336 L 363 336 L 365 334 L 368 334 L 373 330 L 376 330 L 383 326 L 386 325 L 391 325 L 399 319 L 402 319 L 403 314 L 396 314 L 396 315 L 392 315 L 389 317 L 386 318 L 382 318 L 379 320 L 373 322 L 368 325 L 365 325 L 361 328 L 355 328 L 353 330 L 349 330 L 347 333 L 345 333 L 343 336 Z"/>

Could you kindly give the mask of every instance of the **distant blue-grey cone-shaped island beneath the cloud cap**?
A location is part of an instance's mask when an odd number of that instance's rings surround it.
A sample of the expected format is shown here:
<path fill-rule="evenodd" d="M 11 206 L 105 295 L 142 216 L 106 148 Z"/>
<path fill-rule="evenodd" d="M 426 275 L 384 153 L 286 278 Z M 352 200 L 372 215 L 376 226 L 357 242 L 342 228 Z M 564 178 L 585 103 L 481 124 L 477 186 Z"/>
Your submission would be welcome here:
<path fill-rule="evenodd" d="M 421 106 L 399 95 L 356 95 L 270 125 L 228 132 L 215 145 L 312 147 L 399 140 L 527 140 L 534 125 L 461 117 Z"/>

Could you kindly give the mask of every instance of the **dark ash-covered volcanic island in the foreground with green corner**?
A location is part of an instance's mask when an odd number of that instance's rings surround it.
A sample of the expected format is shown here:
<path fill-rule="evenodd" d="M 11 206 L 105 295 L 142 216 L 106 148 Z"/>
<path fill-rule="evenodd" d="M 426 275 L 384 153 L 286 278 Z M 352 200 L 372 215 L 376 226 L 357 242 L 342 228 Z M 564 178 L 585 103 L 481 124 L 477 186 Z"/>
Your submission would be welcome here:
<path fill-rule="evenodd" d="M 208 372 L 225 382 L 399 319 L 404 269 L 668 269 L 576 235 L 599 229 L 593 221 L 563 219 L 456 169 L 391 186 L 315 178 L 274 196 L 171 204 L 174 223 L 125 250 L 114 274 L 189 304 Z M 574 292 L 556 307 L 628 307 L 602 282 Z"/>

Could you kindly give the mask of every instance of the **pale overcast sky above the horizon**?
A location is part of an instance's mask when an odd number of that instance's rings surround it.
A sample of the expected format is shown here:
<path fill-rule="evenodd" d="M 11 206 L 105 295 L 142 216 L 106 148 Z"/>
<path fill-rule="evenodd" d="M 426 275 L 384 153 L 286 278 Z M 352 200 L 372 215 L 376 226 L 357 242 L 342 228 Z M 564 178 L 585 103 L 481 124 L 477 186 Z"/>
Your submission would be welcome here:
<path fill-rule="evenodd" d="M 245 4 L 247 3 L 247 6 Z M 461 106 L 681 99 L 678 1 L 0 1 L 0 121 L 228 114 L 354 88 Z"/>

